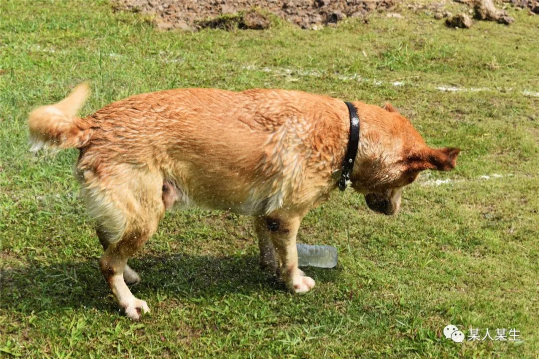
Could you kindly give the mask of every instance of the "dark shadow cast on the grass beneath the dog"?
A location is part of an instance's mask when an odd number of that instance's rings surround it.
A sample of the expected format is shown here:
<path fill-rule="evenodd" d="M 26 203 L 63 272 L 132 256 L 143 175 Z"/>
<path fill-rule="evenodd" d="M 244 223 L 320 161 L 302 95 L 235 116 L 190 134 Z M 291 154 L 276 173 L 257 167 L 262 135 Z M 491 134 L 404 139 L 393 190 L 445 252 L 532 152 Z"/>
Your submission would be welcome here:
<path fill-rule="evenodd" d="M 286 291 L 284 284 L 259 268 L 258 256 L 142 256 L 132 258 L 129 265 L 142 277 L 140 284 L 131 287 L 141 299 L 156 293 L 189 300 L 221 298 L 226 293 Z M 321 282 L 333 281 L 338 272 L 308 269 Z M 118 311 L 97 259 L 3 269 L 0 279 L 4 310 L 38 313 L 83 307 Z"/>

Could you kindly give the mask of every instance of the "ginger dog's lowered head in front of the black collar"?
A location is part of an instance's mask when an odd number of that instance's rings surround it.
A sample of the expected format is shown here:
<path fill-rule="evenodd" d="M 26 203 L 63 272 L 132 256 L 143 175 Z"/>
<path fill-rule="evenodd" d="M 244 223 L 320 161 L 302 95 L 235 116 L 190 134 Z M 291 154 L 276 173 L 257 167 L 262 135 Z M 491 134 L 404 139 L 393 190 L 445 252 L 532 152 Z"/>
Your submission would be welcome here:
<path fill-rule="evenodd" d="M 365 195 L 370 209 L 397 213 L 403 187 L 424 170 L 449 171 L 457 165 L 459 149 L 432 149 L 412 124 L 391 106 L 356 104 L 361 137 L 352 187 Z"/>

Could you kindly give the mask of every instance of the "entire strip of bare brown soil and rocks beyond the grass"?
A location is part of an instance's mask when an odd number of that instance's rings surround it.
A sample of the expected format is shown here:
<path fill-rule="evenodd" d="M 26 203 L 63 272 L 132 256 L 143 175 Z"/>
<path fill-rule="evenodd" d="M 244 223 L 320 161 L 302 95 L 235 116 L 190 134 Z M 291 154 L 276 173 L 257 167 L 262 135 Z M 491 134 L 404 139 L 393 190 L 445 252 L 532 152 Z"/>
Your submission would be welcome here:
<path fill-rule="evenodd" d="M 526 9 L 530 15 L 539 13 L 539 0 L 111 0 L 115 10 L 142 12 L 154 16 L 161 30 L 183 29 L 196 31 L 204 27 L 218 29 L 266 29 L 271 25 L 268 14 L 273 14 L 302 29 L 319 30 L 334 26 L 345 18 L 360 17 L 368 22 L 372 12 L 387 12 L 388 17 L 402 16 L 399 8 L 428 10 L 434 18 L 446 18 L 451 27 L 469 27 L 469 14 L 481 20 L 510 24 L 507 6 Z M 447 4 L 466 5 L 468 13 L 452 15 Z M 472 10 L 474 9 L 474 10 Z M 479 14 L 479 15 L 478 15 Z"/>

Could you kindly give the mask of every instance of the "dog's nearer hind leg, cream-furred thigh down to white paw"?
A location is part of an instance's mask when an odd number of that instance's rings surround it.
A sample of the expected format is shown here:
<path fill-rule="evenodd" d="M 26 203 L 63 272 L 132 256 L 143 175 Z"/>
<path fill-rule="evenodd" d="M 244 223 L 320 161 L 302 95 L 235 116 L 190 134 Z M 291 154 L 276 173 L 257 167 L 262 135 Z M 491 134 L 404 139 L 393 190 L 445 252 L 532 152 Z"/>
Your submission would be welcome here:
<path fill-rule="evenodd" d="M 126 284 L 125 277 L 132 274 L 126 272 L 127 260 L 154 234 L 164 215 L 163 182 L 160 175 L 148 171 L 118 170 L 110 168 L 106 182 L 88 181 L 85 192 L 106 247 L 99 259 L 103 277 L 126 315 L 137 320 L 149 307 L 146 301 L 135 298 Z"/>

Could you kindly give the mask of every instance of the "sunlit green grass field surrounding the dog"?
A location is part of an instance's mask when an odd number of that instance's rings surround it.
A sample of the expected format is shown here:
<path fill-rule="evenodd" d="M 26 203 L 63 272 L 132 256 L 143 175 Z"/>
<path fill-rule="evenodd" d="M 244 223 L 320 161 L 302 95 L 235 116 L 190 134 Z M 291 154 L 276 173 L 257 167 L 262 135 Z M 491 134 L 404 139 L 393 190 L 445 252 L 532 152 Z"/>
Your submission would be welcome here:
<path fill-rule="evenodd" d="M 104 2 L 2 1 L 0 355 L 537 358 L 539 99 L 523 91 L 539 91 L 539 21 L 508 11 L 511 26 L 469 30 L 403 10 L 405 19 L 374 14 L 322 31 L 274 20 L 262 32 L 184 33 Z M 71 170 L 77 151 L 27 146 L 27 113 L 86 80 L 84 115 L 174 87 L 391 101 L 429 144 L 462 153 L 454 171 L 405 189 L 395 217 L 350 190 L 312 210 L 299 241 L 335 245 L 339 264 L 306 269 L 317 281 L 307 295 L 259 270 L 246 217 L 167 214 L 132 260 L 143 278 L 133 292 L 152 309 L 133 322 L 99 273 Z M 502 177 L 480 178 L 493 174 Z M 429 186 L 436 180 L 451 182 Z M 516 328 L 523 341 L 457 344 L 441 335 L 448 323 Z"/>

